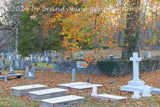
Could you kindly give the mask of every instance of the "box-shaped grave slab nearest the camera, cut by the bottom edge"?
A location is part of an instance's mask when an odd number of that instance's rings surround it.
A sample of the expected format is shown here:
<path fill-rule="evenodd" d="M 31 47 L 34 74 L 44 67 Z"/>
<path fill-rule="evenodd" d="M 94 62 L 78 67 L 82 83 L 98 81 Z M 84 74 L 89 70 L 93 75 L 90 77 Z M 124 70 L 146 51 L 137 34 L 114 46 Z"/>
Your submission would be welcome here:
<path fill-rule="evenodd" d="M 68 95 L 50 99 L 44 99 L 42 101 L 42 107 L 71 107 L 82 104 L 84 97 Z"/>

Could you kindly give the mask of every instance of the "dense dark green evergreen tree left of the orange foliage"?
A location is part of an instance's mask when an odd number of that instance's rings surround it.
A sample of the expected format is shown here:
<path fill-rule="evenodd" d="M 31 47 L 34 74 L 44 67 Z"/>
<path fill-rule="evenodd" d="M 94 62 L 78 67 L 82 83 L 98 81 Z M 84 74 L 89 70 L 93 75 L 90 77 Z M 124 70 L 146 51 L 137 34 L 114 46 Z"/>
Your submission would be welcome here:
<path fill-rule="evenodd" d="M 42 21 L 42 17 L 34 18 L 33 12 L 27 13 L 26 11 L 20 17 L 20 42 L 18 45 L 18 51 L 23 56 L 28 56 L 31 53 L 43 52 L 45 50 L 60 50 L 61 41 L 63 36 L 60 35 L 61 26 L 57 25 L 56 29 L 50 29 L 48 37 L 42 36 L 43 29 L 39 22 Z"/>

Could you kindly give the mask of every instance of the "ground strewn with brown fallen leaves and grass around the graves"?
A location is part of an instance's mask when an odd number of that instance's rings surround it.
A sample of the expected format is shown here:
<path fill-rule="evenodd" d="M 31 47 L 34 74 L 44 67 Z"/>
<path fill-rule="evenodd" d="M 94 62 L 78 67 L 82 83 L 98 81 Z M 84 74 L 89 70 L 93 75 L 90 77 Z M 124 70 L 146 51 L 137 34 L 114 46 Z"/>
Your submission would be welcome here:
<path fill-rule="evenodd" d="M 5 72 L 6 74 L 8 72 Z M 23 73 L 25 71 L 16 71 Z M 160 88 L 160 70 L 157 72 L 145 72 L 140 74 L 141 79 L 146 85 Z M 29 85 L 29 84 L 44 84 L 47 88 L 58 87 L 58 84 L 72 82 L 72 75 L 67 73 L 53 73 L 52 71 L 36 71 L 36 79 L 28 80 L 9 78 L 7 82 L 0 81 L 0 107 L 41 107 L 41 102 L 29 100 L 29 96 L 15 97 L 10 95 L 11 87 Z M 113 95 L 127 96 L 128 99 L 120 103 L 113 101 L 100 101 L 91 97 L 92 90 L 73 91 L 69 90 L 68 94 L 74 94 L 85 97 L 84 103 L 79 107 L 160 107 L 160 95 L 153 94 L 149 98 L 130 99 L 132 93 L 120 91 L 120 86 L 127 85 L 131 80 L 132 74 L 120 77 L 109 77 L 106 75 L 94 74 L 76 74 L 76 81 L 86 81 L 89 78 L 90 83 L 102 84 L 103 87 L 98 89 L 98 94 L 108 93 Z"/>

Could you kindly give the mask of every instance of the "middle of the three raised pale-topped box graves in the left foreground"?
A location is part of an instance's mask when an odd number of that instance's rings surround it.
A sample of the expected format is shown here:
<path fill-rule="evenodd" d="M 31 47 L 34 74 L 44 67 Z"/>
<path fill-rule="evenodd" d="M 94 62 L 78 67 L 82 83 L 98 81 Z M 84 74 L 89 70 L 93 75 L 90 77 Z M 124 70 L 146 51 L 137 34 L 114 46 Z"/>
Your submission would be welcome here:
<path fill-rule="evenodd" d="M 31 91 L 29 92 L 29 94 L 31 95 L 30 99 L 40 101 L 42 99 L 65 96 L 67 95 L 67 90 L 61 88 L 51 88 L 38 91 Z"/>

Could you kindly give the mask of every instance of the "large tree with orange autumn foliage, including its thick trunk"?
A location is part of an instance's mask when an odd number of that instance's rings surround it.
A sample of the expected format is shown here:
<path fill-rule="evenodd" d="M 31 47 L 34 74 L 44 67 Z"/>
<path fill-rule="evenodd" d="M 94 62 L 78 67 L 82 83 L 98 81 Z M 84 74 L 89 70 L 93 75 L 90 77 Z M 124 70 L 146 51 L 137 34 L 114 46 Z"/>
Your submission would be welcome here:
<path fill-rule="evenodd" d="M 91 48 L 96 47 L 93 51 L 94 55 L 97 55 L 99 49 L 104 46 L 119 49 L 118 41 L 122 35 L 122 58 L 128 59 L 132 52 L 139 50 L 140 31 L 145 30 L 145 27 L 140 26 L 140 1 L 142 0 L 32 0 L 32 6 L 29 3 L 25 6 L 29 7 L 26 11 L 32 11 L 35 18 L 43 18 L 39 23 L 44 38 L 47 38 L 50 29 L 56 28 L 53 23 L 58 22 L 62 26 L 61 35 L 66 35 L 62 46 L 66 50 L 75 52 L 87 45 Z M 148 2 L 154 4 L 158 0 Z M 64 11 L 49 11 L 52 10 L 51 7 Z M 120 32 L 119 36 L 116 35 L 117 31 Z M 94 55 L 88 55 L 90 60 L 95 58 Z"/>

